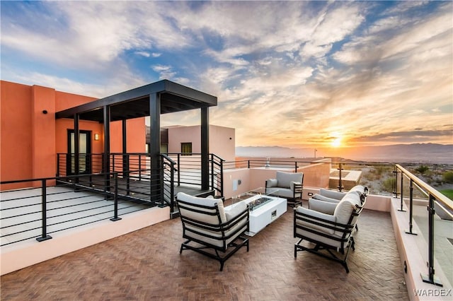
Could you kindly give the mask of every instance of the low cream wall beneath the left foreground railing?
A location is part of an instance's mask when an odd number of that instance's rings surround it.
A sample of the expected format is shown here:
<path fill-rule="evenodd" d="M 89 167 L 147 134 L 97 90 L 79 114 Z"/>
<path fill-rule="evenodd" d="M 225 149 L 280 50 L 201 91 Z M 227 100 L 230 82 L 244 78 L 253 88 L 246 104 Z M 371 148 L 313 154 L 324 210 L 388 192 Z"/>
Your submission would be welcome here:
<path fill-rule="evenodd" d="M 125 235 L 149 225 L 168 220 L 170 207 L 154 207 L 120 216 L 115 222 L 103 220 L 73 230 L 52 233 L 52 239 L 38 242 L 30 240 L 1 247 L 0 274 L 11 273 L 26 266 L 61 256 L 78 249 Z"/>

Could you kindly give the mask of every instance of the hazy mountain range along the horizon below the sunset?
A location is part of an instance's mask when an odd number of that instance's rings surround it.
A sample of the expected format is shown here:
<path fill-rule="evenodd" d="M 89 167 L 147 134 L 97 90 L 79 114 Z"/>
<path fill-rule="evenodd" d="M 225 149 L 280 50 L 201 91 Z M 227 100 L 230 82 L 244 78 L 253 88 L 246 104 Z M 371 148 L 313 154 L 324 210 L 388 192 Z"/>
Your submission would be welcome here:
<path fill-rule="evenodd" d="M 238 146 L 236 156 L 314 158 L 314 148 Z M 317 148 L 316 157 L 341 157 L 368 162 L 453 164 L 453 144 L 413 143 L 355 148 Z"/>

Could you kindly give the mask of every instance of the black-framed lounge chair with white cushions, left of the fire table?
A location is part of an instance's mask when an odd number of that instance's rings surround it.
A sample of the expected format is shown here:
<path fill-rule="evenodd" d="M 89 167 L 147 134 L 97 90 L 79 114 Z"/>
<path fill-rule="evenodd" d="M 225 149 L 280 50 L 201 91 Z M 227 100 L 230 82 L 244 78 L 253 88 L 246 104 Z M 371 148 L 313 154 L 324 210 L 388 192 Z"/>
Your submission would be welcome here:
<path fill-rule="evenodd" d="M 248 206 L 245 201 L 224 208 L 222 199 L 212 196 L 200 198 L 179 192 L 176 196 L 180 219 L 183 223 L 183 238 L 179 253 L 184 249 L 216 259 L 223 271 L 224 262 L 241 247 L 248 238 Z M 207 250 L 211 252 L 207 252 Z"/>

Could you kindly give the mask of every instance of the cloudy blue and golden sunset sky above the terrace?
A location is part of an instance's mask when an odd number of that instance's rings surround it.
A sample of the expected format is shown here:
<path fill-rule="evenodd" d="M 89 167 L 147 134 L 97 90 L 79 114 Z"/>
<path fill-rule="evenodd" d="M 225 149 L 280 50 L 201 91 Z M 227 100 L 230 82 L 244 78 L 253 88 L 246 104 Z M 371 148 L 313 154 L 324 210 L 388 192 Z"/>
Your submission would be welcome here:
<path fill-rule="evenodd" d="M 216 95 L 236 146 L 453 143 L 453 2 L 1 1 L 2 80 L 103 98 L 164 78 Z"/>

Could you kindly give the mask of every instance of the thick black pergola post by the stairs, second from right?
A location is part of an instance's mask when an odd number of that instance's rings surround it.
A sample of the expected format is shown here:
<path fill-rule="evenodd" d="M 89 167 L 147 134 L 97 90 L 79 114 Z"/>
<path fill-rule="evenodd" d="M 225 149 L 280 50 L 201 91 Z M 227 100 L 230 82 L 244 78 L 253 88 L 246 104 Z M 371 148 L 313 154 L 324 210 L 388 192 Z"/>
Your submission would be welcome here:
<path fill-rule="evenodd" d="M 161 95 L 149 95 L 149 155 L 151 157 L 151 201 L 158 202 L 164 197 L 161 183 Z"/>

